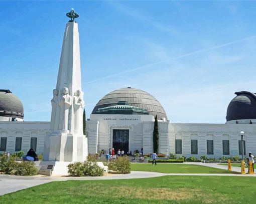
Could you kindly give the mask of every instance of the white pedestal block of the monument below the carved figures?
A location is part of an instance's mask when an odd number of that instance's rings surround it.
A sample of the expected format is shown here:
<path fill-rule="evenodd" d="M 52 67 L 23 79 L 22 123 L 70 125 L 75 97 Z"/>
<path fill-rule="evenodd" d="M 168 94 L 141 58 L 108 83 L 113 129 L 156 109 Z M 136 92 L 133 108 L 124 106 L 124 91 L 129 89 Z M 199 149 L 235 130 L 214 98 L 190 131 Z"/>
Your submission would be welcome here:
<path fill-rule="evenodd" d="M 44 161 L 84 161 L 88 155 L 85 135 L 51 133 L 45 137 Z"/>

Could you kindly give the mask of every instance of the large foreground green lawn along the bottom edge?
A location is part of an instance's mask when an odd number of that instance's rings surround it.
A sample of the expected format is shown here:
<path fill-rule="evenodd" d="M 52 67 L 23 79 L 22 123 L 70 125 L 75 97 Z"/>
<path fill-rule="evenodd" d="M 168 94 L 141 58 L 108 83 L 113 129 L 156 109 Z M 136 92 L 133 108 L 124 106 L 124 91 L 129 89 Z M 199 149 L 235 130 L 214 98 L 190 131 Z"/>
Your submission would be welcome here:
<path fill-rule="evenodd" d="M 255 203 L 255 183 L 239 176 L 54 181 L 0 196 L 0 203 Z"/>

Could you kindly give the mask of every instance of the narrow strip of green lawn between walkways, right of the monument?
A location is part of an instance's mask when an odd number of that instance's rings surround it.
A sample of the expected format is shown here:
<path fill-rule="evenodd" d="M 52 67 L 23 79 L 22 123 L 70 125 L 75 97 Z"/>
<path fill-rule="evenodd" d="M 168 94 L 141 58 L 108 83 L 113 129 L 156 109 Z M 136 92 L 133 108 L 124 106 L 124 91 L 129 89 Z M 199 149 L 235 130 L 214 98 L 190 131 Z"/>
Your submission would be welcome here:
<path fill-rule="evenodd" d="M 173 164 L 173 163 L 131 163 L 132 171 L 153 171 L 160 173 L 235 173 L 228 170 L 199 166 L 194 164 Z"/>

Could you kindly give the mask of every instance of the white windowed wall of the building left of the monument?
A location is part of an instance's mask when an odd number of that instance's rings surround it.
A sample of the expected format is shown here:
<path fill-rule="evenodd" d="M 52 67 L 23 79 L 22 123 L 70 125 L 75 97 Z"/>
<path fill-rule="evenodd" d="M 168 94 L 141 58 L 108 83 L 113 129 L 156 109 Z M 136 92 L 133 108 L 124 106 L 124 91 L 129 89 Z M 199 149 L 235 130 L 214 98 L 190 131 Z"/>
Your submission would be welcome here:
<path fill-rule="evenodd" d="M 0 122 L 0 137 L 7 137 L 7 149 L 15 152 L 16 137 L 22 137 L 22 151 L 30 149 L 31 137 L 37 137 L 37 154 L 44 152 L 45 136 L 50 131 L 50 122 Z M 4 153 L 4 151 L 0 151 Z"/>

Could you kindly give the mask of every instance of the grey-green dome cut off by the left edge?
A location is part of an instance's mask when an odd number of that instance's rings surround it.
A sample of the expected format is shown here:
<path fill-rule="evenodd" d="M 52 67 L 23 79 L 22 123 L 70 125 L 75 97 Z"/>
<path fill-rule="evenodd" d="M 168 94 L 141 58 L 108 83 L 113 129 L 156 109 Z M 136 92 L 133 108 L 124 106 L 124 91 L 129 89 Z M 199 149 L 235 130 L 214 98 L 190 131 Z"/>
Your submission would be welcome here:
<path fill-rule="evenodd" d="M 22 102 L 10 90 L 0 89 L 0 116 L 24 117 Z"/>

